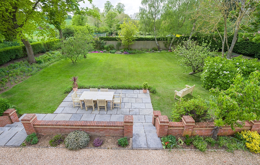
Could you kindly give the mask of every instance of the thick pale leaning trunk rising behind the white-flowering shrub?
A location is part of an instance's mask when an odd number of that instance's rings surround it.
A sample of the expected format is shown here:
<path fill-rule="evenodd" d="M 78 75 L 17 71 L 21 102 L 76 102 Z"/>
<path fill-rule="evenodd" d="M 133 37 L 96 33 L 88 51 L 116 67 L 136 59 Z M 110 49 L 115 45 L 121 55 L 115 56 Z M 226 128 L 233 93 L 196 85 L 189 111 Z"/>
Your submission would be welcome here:
<path fill-rule="evenodd" d="M 226 56 L 227 59 L 231 58 L 231 54 L 233 52 L 233 48 L 234 48 L 235 43 L 237 41 L 237 34 L 238 34 L 239 26 L 240 26 L 241 20 L 242 20 L 243 15 L 244 15 L 245 3 L 246 3 L 246 0 L 241 0 L 241 8 L 240 8 L 239 15 L 238 15 L 238 18 L 237 18 L 237 24 L 236 24 L 236 28 L 235 28 L 234 37 L 233 37 L 231 46 L 229 48 L 229 52 L 228 52 L 228 54 Z"/>

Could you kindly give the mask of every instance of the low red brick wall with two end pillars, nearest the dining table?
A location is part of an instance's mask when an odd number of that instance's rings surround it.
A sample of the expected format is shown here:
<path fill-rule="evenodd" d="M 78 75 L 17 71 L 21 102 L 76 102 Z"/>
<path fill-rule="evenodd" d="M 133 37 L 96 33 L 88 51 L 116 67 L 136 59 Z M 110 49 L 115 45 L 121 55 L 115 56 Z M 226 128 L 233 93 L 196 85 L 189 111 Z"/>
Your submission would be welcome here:
<path fill-rule="evenodd" d="M 86 131 L 90 135 L 133 137 L 133 116 L 125 115 L 123 122 L 37 120 L 36 114 L 26 114 L 21 119 L 26 133 L 69 134 Z"/>

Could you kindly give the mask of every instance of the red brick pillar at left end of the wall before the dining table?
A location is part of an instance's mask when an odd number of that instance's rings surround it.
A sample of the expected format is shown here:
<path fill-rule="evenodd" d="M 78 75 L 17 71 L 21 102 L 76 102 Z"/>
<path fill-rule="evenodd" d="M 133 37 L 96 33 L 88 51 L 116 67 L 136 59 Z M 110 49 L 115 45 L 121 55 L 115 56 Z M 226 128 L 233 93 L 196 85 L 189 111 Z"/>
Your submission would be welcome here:
<path fill-rule="evenodd" d="M 22 123 L 23 123 L 23 127 L 27 133 L 27 135 L 30 135 L 32 133 L 36 133 L 35 129 L 34 129 L 34 123 L 37 120 L 36 114 L 32 113 L 32 114 L 26 114 L 22 119 L 21 119 Z"/>

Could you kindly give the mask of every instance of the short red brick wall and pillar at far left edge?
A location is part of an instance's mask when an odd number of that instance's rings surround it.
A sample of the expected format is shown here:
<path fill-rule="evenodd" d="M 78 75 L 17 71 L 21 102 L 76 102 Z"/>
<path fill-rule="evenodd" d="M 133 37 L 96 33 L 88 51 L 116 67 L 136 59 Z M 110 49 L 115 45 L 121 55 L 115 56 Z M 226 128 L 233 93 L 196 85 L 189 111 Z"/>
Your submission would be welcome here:
<path fill-rule="evenodd" d="M 15 109 L 7 109 L 4 111 L 3 116 L 0 116 L 0 127 L 5 127 L 6 124 L 19 122 L 19 118 Z"/>

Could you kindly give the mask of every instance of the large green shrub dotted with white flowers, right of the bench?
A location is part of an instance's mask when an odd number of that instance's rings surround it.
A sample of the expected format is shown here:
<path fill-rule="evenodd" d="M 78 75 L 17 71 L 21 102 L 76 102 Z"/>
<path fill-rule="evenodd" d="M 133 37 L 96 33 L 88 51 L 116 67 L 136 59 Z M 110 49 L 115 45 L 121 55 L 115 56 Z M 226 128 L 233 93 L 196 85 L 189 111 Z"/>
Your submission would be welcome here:
<path fill-rule="evenodd" d="M 234 82 L 237 73 L 242 73 L 242 77 L 247 80 L 250 73 L 260 70 L 260 63 L 256 59 L 248 60 L 242 56 L 231 59 L 208 57 L 201 74 L 202 86 L 206 89 L 219 88 L 226 90 Z"/>

